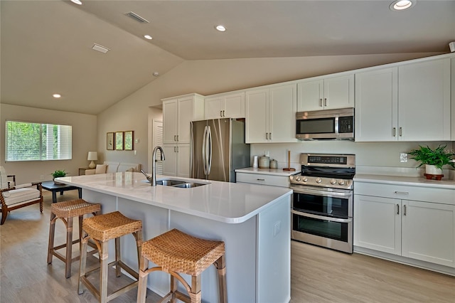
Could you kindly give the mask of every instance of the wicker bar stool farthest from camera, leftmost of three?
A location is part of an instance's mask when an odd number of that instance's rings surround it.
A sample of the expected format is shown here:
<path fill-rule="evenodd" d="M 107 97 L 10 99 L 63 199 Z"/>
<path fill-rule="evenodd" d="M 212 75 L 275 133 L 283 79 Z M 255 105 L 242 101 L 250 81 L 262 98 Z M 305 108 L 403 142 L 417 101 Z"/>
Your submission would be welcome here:
<path fill-rule="evenodd" d="M 101 210 L 101 205 L 88 203 L 82 199 L 52 203 L 50 206 L 50 226 L 49 226 L 49 245 L 48 245 L 48 264 L 52 263 L 52 257 L 65 262 L 65 277 L 71 277 L 71 263 L 78 260 L 80 255 L 72 257 L 73 244 L 80 243 L 82 237 L 82 219 L 84 215 L 92 213 L 95 216 Z M 79 238 L 73 240 L 73 218 L 79 217 Z M 54 246 L 55 222 L 60 219 L 66 226 L 66 243 Z M 57 250 L 66 248 L 66 255 L 63 256 Z M 96 247 L 95 247 L 96 248 Z"/>

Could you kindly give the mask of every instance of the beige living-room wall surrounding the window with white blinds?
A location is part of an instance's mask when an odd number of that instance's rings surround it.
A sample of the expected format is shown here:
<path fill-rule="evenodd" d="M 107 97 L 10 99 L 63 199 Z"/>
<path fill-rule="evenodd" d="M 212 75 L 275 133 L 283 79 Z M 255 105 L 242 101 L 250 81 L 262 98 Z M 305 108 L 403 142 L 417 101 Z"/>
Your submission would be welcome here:
<path fill-rule="evenodd" d="M 26 122 L 67 124 L 73 126 L 73 159 L 55 161 L 23 161 L 5 163 L 5 122 L 13 119 Z M 18 184 L 52 180 L 50 175 L 57 169 L 64 169 L 68 175 L 77 176 L 79 167 L 87 167 L 87 152 L 97 150 L 97 116 L 41 110 L 33 107 L 0 105 L 0 165 L 7 174 L 15 174 Z M 100 163 L 99 161 L 97 161 Z"/>

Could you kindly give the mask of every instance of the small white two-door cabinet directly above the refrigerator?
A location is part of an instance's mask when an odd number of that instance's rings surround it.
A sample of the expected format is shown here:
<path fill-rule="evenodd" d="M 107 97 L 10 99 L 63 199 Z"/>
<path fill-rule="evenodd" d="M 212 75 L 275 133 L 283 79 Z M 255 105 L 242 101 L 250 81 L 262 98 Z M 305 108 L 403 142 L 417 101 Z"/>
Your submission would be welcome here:
<path fill-rule="evenodd" d="M 205 97 L 205 119 L 245 118 L 245 92 Z"/>

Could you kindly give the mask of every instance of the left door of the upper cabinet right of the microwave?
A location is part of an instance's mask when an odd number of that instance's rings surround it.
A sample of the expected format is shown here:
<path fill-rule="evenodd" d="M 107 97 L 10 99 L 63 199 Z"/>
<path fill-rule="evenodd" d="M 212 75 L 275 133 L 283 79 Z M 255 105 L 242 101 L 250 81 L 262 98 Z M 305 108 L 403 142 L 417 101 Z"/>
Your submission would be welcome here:
<path fill-rule="evenodd" d="M 398 69 L 355 74 L 355 141 L 397 141 Z"/>

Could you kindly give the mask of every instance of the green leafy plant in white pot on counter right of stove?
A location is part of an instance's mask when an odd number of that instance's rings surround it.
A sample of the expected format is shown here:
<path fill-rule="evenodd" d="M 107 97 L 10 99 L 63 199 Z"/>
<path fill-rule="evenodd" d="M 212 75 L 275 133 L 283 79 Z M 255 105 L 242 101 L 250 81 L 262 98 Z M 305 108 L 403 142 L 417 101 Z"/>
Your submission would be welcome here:
<path fill-rule="evenodd" d="M 431 149 L 428 145 L 427 147 L 419 145 L 419 149 L 412 149 L 407 154 L 413 156 L 411 159 L 420 162 L 417 167 L 425 164 L 426 174 L 441 175 L 444 165 L 450 165 L 455 169 L 455 164 L 451 161 L 454 153 L 446 151 L 446 147 L 446 145 L 439 144 L 436 149 Z"/>

